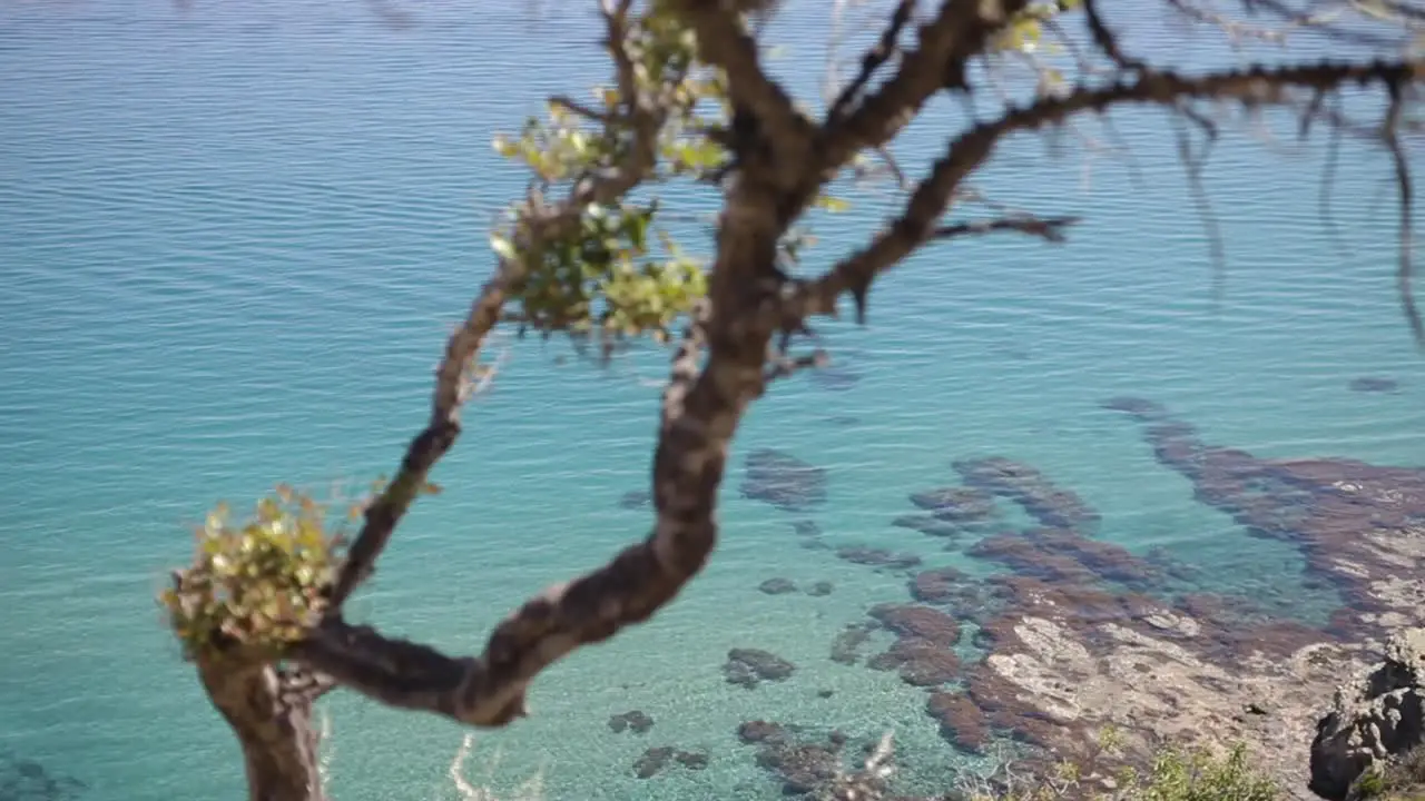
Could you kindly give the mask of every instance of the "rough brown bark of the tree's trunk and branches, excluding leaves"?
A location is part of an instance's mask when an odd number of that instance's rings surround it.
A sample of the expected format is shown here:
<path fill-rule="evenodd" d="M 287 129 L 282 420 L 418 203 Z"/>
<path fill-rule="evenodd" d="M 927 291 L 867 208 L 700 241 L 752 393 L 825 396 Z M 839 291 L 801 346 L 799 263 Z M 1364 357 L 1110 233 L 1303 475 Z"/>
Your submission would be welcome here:
<path fill-rule="evenodd" d="M 864 311 L 876 277 L 933 238 L 1019 231 L 1057 241 L 1072 219 L 990 219 L 943 224 L 965 181 L 1016 131 L 1037 130 L 1120 104 L 1178 107 L 1191 98 L 1233 98 L 1244 104 L 1291 103 L 1288 88 L 1332 91 L 1345 83 L 1391 88 L 1425 74 L 1421 63 L 1317 64 L 1254 68 L 1200 77 L 1154 71 L 1117 51 L 1112 33 L 1090 9 L 1093 38 L 1120 67 L 1114 81 L 1082 86 L 1057 97 L 1007 107 L 990 121 L 973 123 L 952 138 L 909 194 L 901 212 L 866 247 L 812 279 L 792 279 L 777 268 L 778 244 L 825 184 L 862 151 L 889 143 L 940 91 L 966 90 L 968 63 L 995 33 L 1026 7 L 1026 0 L 946 0 L 915 27 L 916 48 L 891 58 L 911 3 L 901 3 L 881 51 L 842 91 L 822 121 L 798 110 L 760 63 L 758 43 L 728 3 L 684 0 L 677 13 L 693 30 L 700 57 L 727 77 L 732 105 L 731 150 L 737 168 L 725 185 L 710 292 L 673 356 L 663 396 L 653 460 L 656 519 L 647 537 L 606 566 L 547 589 L 526 601 L 492 633 L 483 653 L 446 656 L 432 647 L 382 636 L 342 617 L 342 604 L 373 573 L 406 509 L 435 463 L 460 435 L 460 406 L 469 392 L 469 366 L 500 321 L 523 279 L 516 261 L 502 261 L 466 321 L 450 336 L 436 372 L 428 426 L 412 440 L 395 479 L 365 513 L 346 563 L 331 589 L 331 613 L 309 637 L 285 654 L 315 676 L 305 687 L 262 660 L 200 661 L 214 706 L 238 735 L 252 801 L 322 801 L 314 698 L 331 686 L 356 690 L 380 703 L 440 714 L 465 724 L 497 727 L 524 714 L 530 681 L 580 646 L 647 620 L 673 600 L 705 564 L 718 537 L 717 493 L 728 446 L 744 412 L 767 388 L 770 356 L 815 315 L 834 315 L 851 294 Z M 631 135 L 627 164 L 574 182 L 569 197 L 547 202 L 532 191 L 529 215 L 516 232 L 522 252 L 539 252 L 550 237 L 580 222 L 590 202 L 608 204 L 634 190 L 653 170 L 656 135 L 667 110 L 638 83 L 624 51 L 631 0 L 604 0 L 607 47 L 624 108 L 610 125 Z M 895 64 L 886 80 L 874 73 Z M 866 91 L 868 86 L 876 86 Z"/>

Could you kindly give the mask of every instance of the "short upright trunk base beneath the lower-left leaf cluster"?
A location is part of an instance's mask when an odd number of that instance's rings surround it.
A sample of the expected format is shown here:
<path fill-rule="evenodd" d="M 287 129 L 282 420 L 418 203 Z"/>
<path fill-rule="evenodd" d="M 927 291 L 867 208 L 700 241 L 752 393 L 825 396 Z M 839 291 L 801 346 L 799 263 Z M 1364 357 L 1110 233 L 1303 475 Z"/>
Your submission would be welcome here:
<path fill-rule="evenodd" d="M 326 801 L 312 701 L 301 694 L 284 698 L 272 664 L 205 658 L 198 673 L 242 745 L 248 801 Z"/>

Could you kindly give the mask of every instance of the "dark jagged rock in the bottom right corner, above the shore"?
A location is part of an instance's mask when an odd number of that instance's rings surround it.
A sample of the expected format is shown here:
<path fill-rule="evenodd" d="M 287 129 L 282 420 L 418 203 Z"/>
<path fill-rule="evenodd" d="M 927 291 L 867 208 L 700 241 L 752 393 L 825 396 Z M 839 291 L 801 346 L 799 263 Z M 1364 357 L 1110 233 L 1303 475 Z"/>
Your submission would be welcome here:
<path fill-rule="evenodd" d="M 1391 636 L 1385 663 L 1337 690 L 1311 743 L 1311 790 L 1347 798 L 1371 765 L 1425 744 L 1425 629 Z"/>

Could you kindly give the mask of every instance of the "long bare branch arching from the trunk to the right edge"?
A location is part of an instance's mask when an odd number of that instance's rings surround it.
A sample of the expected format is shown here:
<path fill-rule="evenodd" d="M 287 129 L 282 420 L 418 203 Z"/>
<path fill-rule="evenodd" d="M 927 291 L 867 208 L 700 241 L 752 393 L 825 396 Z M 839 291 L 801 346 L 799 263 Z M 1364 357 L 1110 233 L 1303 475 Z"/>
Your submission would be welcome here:
<path fill-rule="evenodd" d="M 836 299 L 845 292 L 852 294 L 858 318 L 862 318 L 871 282 L 931 238 L 935 221 L 945 212 L 963 180 L 990 157 L 998 143 L 1007 134 L 1057 124 L 1083 111 L 1103 113 L 1114 105 L 1176 105 L 1184 100 L 1200 98 L 1238 100 L 1250 105 L 1284 104 L 1290 100 L 1291 88 L 1334 91 L 1348 83 L 1401 87 L 1418 81 L 1422 76 L 1425 76 L 1422 60 L 1253 67 L 1201 77 L 1144 70 L 1114 84 L 1080 87 L 1063 95 L 1040 98 L 1022 108 L 1010 108 L 1000 118 L 982 123 L 960 134 L 912 192 L 905 211 L 868 247 L 845 258 L 819 278 L 794 288 L 778 309 L 779 321 L 785 325 L 788 321 L 811 315 L 835 315 Z M 1409 195 L 1408 190 L 1408 182 L 1402 184 L 1402 198 Z M 1406 314 L 1412 316 L 1411 325 L 1416 326 L 1418 318 L 1409 295 L 1408 275 L 1409 258 L 1405 254 L 1399 281 L 1405 292 L 1402 302 Z"/>

